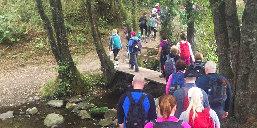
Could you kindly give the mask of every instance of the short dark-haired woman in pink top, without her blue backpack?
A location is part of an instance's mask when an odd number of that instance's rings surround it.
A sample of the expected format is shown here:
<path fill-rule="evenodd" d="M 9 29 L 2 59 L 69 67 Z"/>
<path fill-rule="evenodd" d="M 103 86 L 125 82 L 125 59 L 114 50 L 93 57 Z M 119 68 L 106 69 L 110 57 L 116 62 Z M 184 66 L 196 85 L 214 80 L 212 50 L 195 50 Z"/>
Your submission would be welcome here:
<path fill-rule="evenodd" d="M 184 70 L 186 69 L 186 62 L 183 61 L 182 59 L 179 59 L 179 60 L 176 61 L 175 67 L 176 67 L 177 73 L 184 73 Z M 173 73 L 172 73 L 172 74 L 173 74 Z M 170 77 L 169 77 L 169 79 L 168 79 L 168 82 L 167 82 L 167 84 L 166 84 L 166 88 L 165 88 L 166 94 L 170 94 L 169 88 L 170 88 L 170 83 L 171 83 L 172 74 L 170 75 Z"/>

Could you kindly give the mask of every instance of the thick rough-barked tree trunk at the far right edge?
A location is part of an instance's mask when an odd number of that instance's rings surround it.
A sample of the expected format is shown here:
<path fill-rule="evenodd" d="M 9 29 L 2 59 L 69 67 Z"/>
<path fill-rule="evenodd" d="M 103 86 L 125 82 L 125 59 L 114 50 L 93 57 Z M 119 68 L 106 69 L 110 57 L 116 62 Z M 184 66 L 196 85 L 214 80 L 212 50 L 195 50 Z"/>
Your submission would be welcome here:
<path fill-rule="evenodd" d="M 256 0 L 248 0 L 242 16 L 235 117 L 241 123 L 257 114 L 257 22 Z"/>

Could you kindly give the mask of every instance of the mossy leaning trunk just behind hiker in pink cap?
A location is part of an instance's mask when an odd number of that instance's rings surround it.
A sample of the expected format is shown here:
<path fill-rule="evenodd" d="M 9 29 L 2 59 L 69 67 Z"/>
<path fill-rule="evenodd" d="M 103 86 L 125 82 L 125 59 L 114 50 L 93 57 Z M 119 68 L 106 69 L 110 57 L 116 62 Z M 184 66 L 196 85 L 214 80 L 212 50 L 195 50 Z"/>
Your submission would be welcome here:
<path fill-rule="evenodd" d="M 125 25 L 126 25 L 127 33 L 128 33 L 128 39 L 130 39 L 131 38 L 131 25 L 130 25 L 131 23 L 130 23 L 130 19 L 128 17 L 128 13 L 127 13 L 126 9 L 124 8 L 122 0 L 118 0 L 118 4 L 119 4 L 120 10 L 121 10 L 123 19 L 125 20 Z"/>

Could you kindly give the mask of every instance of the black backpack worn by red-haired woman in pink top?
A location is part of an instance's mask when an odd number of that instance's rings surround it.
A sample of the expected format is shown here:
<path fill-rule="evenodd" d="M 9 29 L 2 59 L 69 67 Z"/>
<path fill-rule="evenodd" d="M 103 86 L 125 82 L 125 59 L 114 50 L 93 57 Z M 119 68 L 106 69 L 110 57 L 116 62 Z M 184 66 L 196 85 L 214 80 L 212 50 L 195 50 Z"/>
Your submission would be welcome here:
<path fill-rule="evenodd" d="M 150 121 L 153 125 L 153 128 L 183 128 L 181 124 L 184 122 L 182 120 L 178 120 L 177 122 L 173 121 L 163 121 L 158 122 L 156 119 Z"/>

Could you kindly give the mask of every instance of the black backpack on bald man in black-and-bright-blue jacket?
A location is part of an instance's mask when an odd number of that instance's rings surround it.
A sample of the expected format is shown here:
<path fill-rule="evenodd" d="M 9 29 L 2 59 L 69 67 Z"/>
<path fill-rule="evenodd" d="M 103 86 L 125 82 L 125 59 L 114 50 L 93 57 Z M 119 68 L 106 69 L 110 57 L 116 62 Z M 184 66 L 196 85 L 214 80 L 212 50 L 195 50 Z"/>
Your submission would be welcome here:
<path fill-rule="evenodd" d="M 146 93 L 143 92 L 138 102 L 135 102 L 131 92 L 127 93 L 130 101 L 128 114 L 126 116 L 126 128 L 143 128 L 147 123 L 147 116 L 144 110 L 143 102 L 146 97 Z"/>

